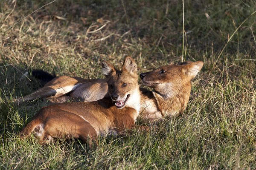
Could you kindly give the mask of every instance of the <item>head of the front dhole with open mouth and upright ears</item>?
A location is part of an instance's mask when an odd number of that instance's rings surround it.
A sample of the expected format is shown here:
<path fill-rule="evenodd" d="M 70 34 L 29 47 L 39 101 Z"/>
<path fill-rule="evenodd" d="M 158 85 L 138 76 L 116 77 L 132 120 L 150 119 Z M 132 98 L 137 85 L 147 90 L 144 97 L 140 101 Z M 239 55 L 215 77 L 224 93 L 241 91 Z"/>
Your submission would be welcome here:
<path fill-rule="evenodd" d="M 132 99 L 139 90 L 137 65 L 131 57 L 126 57 L 122 65 L 122 71 L 103 60 L 102 73 L 107 78 L 108 94 L 115 102 L 117 108 L 131 105 Z"/>

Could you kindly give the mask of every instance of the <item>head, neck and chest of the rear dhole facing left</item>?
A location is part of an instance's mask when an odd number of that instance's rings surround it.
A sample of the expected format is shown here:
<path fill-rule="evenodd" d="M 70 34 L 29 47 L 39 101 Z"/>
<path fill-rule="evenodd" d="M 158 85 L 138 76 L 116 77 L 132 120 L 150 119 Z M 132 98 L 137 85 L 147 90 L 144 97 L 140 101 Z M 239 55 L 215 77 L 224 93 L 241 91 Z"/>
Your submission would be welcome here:
<path fill-rule="evenodd" d="M 145 108 L 141 114 L 143 118 L 155 120 L 182 113 L 189 101 L 191 79 L 203 65 L 201 61 L 183 62 L 140 74 L 143 84 L 154 89 L 142 91 L 141 101 Z"/>

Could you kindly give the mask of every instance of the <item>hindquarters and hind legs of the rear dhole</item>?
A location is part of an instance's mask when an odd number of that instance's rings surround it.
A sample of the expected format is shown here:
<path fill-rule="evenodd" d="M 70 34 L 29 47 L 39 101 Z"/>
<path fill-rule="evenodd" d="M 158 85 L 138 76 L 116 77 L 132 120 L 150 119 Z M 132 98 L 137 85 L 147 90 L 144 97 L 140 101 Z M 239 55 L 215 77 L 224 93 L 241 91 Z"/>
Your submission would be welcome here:
<path fill-rule="evenodd" d="M 43 77 L 48 73 L 41 71 Z M 94 93 L 97 92 L 97 93 Z M 68 94 L 68 95 L 67 95 Z M 82 79 L 80 77 L 56 77 L 32 94 L 20 97 L 15 102 L 26 102 L 43 98 L 52 103 L 63 103 L 69 100 L 76 102 L 93 102 L 108 96 L 106 79 Z"/>

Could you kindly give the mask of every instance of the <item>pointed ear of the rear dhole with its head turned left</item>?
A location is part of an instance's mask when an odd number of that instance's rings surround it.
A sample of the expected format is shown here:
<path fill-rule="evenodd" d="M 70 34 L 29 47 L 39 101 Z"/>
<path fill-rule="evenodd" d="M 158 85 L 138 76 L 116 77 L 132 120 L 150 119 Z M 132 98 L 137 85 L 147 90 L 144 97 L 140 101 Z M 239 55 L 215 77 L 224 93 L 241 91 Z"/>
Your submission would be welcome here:
<path fill-rule="evenodd" d="M 184 73 L 192 79 L 198 74 L 203 65 L 204 62 L 202 61 L 188 62 L 184 65 Z"/>

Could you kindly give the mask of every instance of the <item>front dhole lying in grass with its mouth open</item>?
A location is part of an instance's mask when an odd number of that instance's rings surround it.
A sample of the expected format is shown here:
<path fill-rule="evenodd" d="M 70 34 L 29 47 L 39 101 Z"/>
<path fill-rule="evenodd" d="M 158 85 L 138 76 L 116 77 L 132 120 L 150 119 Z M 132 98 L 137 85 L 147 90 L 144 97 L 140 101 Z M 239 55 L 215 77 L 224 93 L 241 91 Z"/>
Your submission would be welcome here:
<path fill-rule="evenodd" d="M 131 57 L 126 57 L 122 71 L 103 61 L 102 72 L 108 83 L 109 99 L 96 102 L 71 102 L 42 108 L 31 122 L 20 132 L 22 138 L 34 133 L 44 144 L 55 138 L 80 138 L 89 147 L 99 134 L 116 134 L 135 126 L 140 108 L 132 105 L 140 103 L 137 66 Z"/>

